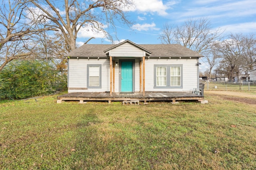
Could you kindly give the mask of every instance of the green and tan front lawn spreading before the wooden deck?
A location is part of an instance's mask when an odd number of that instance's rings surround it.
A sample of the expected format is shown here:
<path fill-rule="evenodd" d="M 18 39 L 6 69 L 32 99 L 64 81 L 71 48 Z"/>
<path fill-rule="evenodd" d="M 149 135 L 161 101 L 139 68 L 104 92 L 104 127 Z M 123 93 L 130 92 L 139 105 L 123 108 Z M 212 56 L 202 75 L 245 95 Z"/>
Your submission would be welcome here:
<path fill-rule="evenodd" d="M 256 106 L 0 101 L 0 169 L 256 169 Z"/>

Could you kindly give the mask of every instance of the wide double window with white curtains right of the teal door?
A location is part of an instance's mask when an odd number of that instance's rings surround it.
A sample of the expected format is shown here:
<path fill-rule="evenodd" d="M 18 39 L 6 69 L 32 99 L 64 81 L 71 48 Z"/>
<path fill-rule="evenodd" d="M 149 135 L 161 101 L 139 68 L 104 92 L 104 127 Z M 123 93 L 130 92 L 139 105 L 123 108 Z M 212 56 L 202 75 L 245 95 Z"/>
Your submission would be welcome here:
<path fill-rule="evenodd" d="M 155 64 L 154 88 L 182 88 L 182 64 Z"/>

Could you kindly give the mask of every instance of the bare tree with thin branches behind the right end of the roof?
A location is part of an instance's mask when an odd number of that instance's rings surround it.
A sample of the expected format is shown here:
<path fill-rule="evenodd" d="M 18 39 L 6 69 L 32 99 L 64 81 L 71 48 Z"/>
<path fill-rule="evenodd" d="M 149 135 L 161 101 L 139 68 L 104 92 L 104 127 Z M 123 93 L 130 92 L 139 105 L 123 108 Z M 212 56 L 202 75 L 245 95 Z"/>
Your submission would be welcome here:
<path fill-rule="evenodd" d="M 189 19 L 181 26 L 166 23 L 159 39 L 162 43 L 178 43 L 200 54 L 205 54 L 221 38 L 223 31 L 212 29 L 207 18 Z"/>

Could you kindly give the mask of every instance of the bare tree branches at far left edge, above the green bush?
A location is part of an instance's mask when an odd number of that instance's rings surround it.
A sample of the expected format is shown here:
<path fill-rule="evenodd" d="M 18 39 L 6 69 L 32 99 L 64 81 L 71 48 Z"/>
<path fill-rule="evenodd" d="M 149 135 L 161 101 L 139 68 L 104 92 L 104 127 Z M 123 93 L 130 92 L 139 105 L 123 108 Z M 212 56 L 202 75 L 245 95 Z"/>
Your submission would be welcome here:
<path fill-rule="evenodd" d="M 40 28 L 36 22 L 28 22 L 26 14 L 29 9 L 26 8 L 26 3 L 19 0 L 2 0 L 0 6 L 0 71 L 10 61 L 32 55 L 32 51 L 26 48 L 26 41 L 31 38 L 32 34 L 44 30 L 56 30 L 50 25 Z"/>

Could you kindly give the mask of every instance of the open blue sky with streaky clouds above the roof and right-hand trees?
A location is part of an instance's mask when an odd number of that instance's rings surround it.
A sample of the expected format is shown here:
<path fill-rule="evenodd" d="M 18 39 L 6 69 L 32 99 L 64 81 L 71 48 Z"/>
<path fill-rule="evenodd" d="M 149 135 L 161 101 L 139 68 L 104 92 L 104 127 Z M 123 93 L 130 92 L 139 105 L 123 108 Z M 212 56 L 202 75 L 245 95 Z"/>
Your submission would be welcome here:
<path fill-rule="evenodd" d="M 116 24 L 117 37 L 137 44 L 160 44 L 158 35 L 164 23 L 182 25 L 189 18 L 208 18 L 212 28 L 221 28 L 224 35 L 230 33 L 256 33 L 256 0 L 134 0 L 136 6 L 129 9 L 128 16 L 134 21 L 132 27 Z M 78 44 L 90 37 L 92 44 L 109 44 L 101 34 L 92 35 L 80 31 Z M 118 42 L 118 41 L 117 41 Z"/>

